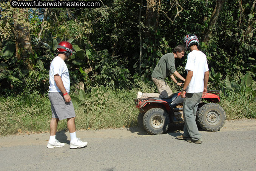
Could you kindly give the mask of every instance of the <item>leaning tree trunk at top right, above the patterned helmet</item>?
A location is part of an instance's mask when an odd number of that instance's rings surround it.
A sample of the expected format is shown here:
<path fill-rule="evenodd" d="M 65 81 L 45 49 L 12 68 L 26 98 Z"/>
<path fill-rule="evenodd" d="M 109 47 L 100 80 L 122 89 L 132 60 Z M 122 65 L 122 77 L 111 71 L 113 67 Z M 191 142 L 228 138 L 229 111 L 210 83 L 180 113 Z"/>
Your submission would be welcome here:
<path fill-rule="evenodd" d="M 206 44 L 208 43 L 208 41 L 210 39 L 210 36 L 211 36 L 211 32 L 213 30 L 213 27 L 215 26 L 215 24 L 218 20 L 219 12 L 222 9 L 224 1 L 225 0 L 217 0 L 217 2 L 216 2 L 216 6 L 214 8 L 214 11 L 211 14 L 210 23 L 208 24 L 207 29 L 205 29 L 205 31 L 204 31 L 204 40 L 203 40 L 203 42 L 206 43 Z"/>

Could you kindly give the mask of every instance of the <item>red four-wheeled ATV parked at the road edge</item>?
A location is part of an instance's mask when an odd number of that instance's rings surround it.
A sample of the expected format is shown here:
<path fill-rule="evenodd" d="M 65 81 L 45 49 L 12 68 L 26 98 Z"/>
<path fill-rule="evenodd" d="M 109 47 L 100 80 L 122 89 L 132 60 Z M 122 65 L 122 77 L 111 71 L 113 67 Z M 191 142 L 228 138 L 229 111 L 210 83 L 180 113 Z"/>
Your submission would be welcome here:
<path fill-rule="evenodd" d="M 184 98 L 181 92 L 169 98 L 134 99 L 139 108 L 138 125 L 150 134 L 163 134 L 168 128 L 184 124 L 182 113 Z M 205 131 L 219 131 L 226 120 L 224 109 L 216 104 L 220 101 L 219 91 L 208 91 L 197 108 L 197 125 Z"/>

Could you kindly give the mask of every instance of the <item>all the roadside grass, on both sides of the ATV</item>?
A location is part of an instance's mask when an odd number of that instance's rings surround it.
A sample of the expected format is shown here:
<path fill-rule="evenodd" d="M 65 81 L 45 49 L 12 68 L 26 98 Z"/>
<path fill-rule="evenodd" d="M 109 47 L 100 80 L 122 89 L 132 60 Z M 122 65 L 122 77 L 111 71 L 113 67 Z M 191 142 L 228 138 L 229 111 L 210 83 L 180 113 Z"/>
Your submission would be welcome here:
<path fill-rule="evenodd" d="M 156 87 L 152 84 L 141 85 L 140 91 L 154 92 Z M 173 92 L 179 87 L 172 85 Z M 106 101 L 100 105 L 90 93 L 86 93 L 86 100 L 91 105 L 75 105 L 76 128 L 101 129 L 137 126 L 137 114 L 133 98 L 136 98 L 138 89 L 115 90 L 106 92 Z M 78 96 L 73 94 L 73 96 Z M 221 94 L 219 103 L 226 111 L 228 119 L 256 118 L 255 98 L 251 95 L 245 97 L 241 92 L 227 91 Z M 94 108 L 91 108 L 93 105 Z M 51 103 L 48 95 L 35 92 L 23 93 L 17 97 L 0 97 L 0 136 L 18 132 L 49 131 L 51 121 Z M 60 121 L 58 131 L 67 130 L 66 120 Z"/>

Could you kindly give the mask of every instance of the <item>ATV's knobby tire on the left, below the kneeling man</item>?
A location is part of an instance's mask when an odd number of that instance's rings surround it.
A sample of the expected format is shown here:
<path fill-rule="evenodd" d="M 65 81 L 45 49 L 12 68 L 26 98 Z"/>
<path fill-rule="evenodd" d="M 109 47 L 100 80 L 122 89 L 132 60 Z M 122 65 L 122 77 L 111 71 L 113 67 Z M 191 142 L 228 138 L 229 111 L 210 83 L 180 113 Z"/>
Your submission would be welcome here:
<path fill-rule="evenodd" d="M 151 108 L 143 116 L 144 129 L 153 135 L 162 134 L 167 131 L 169 123 L 168 113 L 161 108 Z"/>

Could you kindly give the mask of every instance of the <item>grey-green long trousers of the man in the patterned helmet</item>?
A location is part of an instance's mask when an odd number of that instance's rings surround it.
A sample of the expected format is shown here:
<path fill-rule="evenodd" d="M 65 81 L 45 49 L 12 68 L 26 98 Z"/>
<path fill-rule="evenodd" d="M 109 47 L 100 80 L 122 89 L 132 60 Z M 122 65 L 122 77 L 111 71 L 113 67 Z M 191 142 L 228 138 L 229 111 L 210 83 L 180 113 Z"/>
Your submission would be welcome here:
<path fill-rule="evenodd" d="M 198 107 L 202 93 L 186 93 L 183 104 L 184 114 L 184 136 L 191 137 L 192 140 L 201 140 L 202 134 L 199 133 L 196 125 L 196 109 Z"/>

